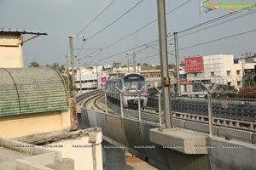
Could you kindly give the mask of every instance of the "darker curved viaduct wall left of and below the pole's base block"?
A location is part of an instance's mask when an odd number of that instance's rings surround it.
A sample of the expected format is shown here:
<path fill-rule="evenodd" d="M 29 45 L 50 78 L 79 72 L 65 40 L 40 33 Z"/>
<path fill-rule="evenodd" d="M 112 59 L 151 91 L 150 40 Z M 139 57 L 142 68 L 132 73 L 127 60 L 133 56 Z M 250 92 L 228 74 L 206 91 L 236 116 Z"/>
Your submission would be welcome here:
<path fill-rule="evenodd" d="M 85 119 L 88 119 L 88 121 L 85 121 Z M 106 115 L 90 109 L 82 109 L 82 121 L 84 121 L 82 122 L 84 127 L 102 127 L 104 138 L 110 139 L 108 143 L 124 144 L 133 155 L 138 156 L 143 161 L 148 161 L 150 165 L 159 169 L 208 169 L 207 156 L 205 155 L 184 155 L 176 150 L 165 149 L 150 142 L 149 130 L 157 127 L 154 123 L 137 122 L 137 120 L 131 120 L 127 117 L 122 119 L 120 116 Z M 119 154 L 119 161 L 115 162 L 117 168 L 113 169 L 119 169 L 118 166 L 122 166 L 120 159 L 122 153 L 117 150 L 116 154 Z M 110 165 L 113 167 L 115 151 L 110 151 L 109 155 L 110 157 L 107 156 L 107 166 L 108 161 L 110 161 Z"/>

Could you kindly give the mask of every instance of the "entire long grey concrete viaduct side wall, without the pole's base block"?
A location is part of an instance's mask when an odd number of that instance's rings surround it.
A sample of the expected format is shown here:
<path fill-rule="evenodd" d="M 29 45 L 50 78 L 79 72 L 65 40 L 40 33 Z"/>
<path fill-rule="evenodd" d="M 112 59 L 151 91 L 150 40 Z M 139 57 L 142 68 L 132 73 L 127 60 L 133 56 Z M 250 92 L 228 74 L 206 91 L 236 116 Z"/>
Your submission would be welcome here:
<path fill-rule="evenodd" d="M 125 150 L 128 150 L 144 161 L 148 161 L 150 165 L 162 170 L 240 170 L 255 169 L 256 167 L 256 161 L 254 161 L 254 158 L 256 157 L 255 144 L 246 144 L 235 140 L 228 141 L 224 138 L 213 137 L 207 140 L 207 146 L 205 146 L 208 150 L 207 155 L 186 155 L 150 142 L 149 130 L 158 126 L 153 122 L 137 122 L 137 119 L 130 119 L 128 117 L 121 118 L 120 116 L 110 114 L 106 115 L 102 112 L 92 111 L 90 109 L 82 109 L 81 114 L 81 121 L 84 127 L 102 127 L 103 139 L 108 139 L 108 143 L 124 144 L 127 147 Z M 175 124 L 179 124 L 179 127 L 196 129 L 200 127 L 201 132 L 204 133 L 207 131 L 207 127 L 201 127 L 199 124 L 189 124 L 189 122 L 177 121 Z M 224 132 L 227 133 L 228 131 Z M 217 133 L 216 128 L 214 128 L 214 133 Z M 232 133 L 243 135 L 242 132 L 238 131 Z M 154 148 L 147 149 L 147 147 L 153 145 Z M 231 145 L 231 148 L 224 148 L 225 145 Z M 239 145 L 239 148 L 232 148 L 232 145 Z M 113 155 L 113 153 L 111 154 Z M 119 165 L 119 162 L 117 162 L 117 165 Z"/>

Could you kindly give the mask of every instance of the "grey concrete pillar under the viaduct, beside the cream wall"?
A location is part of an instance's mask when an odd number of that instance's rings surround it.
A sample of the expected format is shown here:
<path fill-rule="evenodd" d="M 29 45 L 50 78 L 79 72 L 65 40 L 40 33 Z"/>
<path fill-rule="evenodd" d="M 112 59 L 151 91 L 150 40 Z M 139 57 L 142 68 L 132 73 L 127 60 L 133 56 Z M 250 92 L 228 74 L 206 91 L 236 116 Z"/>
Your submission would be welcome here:
<path fill-rule="evenodd" d="M 125 169 L 125 150 L 113 148 L 113 144 L 102 141 L 103 170 Z"/>

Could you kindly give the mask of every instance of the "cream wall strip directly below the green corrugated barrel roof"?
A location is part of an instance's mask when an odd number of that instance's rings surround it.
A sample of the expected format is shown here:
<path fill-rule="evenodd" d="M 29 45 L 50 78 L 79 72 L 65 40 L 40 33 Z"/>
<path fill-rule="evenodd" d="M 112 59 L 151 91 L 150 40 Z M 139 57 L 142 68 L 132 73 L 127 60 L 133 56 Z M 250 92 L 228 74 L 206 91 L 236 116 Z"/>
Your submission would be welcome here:
<path fill-rule="evenodd" d="M 51 111 L 0 117 L 0 138 L 16 138 L 35 133 L 69 130 L 70 112 Z"/>

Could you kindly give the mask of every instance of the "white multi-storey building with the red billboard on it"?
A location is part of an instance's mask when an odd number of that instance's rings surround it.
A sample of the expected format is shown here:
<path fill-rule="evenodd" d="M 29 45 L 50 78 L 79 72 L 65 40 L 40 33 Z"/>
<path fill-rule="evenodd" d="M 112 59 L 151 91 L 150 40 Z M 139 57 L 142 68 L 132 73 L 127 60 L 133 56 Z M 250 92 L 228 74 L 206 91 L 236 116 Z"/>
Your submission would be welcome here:
<path fill-rule="evenodd" d="M 233 54 L 196 56 L 184 59 L 186 82 L 181 83 L 183 95 L 205 95 L 212 85 L 242 86 L 242 64 L 234 62 Z"/>

